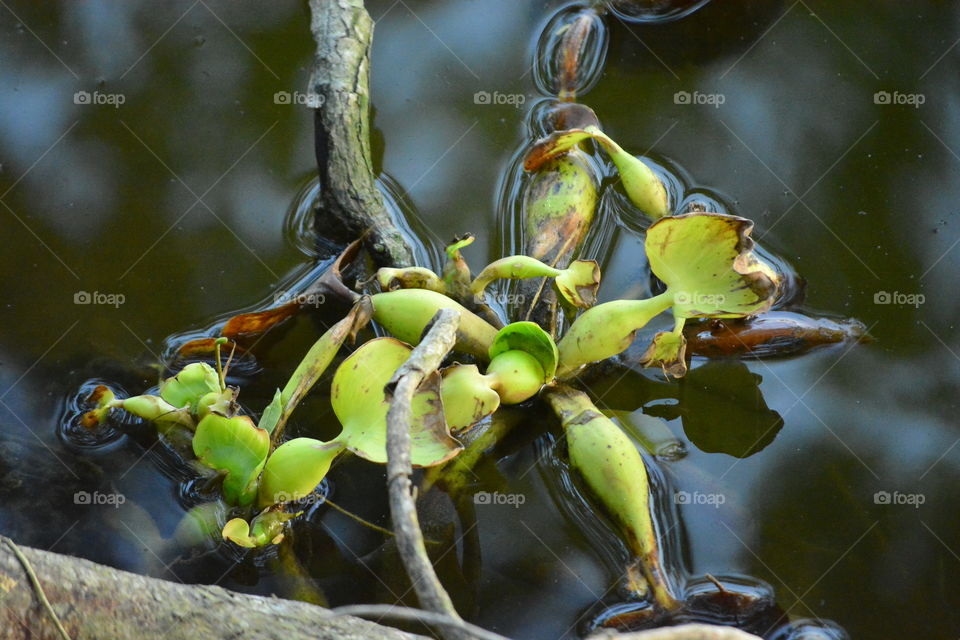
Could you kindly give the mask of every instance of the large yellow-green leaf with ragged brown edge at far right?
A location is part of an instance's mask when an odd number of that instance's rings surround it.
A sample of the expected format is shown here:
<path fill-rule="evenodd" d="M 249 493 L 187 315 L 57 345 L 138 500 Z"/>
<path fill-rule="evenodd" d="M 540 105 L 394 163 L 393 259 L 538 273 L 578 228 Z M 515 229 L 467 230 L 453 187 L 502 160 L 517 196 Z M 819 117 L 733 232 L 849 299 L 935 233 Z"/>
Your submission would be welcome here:
<path fill-rule="evenodd" d="M 754 253 L 753 223 L 719 213 L 664 218 L 647 230 L 650 269 L 681 318 L 738 318 L 773 305 L 780 277 Z"/>

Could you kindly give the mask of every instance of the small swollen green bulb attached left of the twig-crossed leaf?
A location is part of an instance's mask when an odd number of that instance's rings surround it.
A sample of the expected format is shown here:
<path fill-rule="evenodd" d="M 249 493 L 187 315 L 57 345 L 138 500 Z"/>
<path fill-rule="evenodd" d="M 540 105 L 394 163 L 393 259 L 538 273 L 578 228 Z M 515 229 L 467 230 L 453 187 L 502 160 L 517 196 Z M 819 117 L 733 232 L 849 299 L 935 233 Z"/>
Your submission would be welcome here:
<path fill-rule="evenodd" d="M 258 504 L 268 507 L 310 495 L 343 451 L 339 442 L 294 438 L 277 447 L 260 476 Z"/>

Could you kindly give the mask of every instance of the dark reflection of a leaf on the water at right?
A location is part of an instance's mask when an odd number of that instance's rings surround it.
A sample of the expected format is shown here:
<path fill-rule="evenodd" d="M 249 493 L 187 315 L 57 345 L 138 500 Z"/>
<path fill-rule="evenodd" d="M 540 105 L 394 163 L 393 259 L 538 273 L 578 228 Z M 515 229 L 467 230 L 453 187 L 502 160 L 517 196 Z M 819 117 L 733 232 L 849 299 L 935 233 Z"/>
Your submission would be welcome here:
<path fill-rule="evenodd" d="M 740 362 L 709 362 L 680 381 L 683 430 L 698 449 L 746 458 L 762 450 L 783 428 L 767 406 L 763 378 Z"/>

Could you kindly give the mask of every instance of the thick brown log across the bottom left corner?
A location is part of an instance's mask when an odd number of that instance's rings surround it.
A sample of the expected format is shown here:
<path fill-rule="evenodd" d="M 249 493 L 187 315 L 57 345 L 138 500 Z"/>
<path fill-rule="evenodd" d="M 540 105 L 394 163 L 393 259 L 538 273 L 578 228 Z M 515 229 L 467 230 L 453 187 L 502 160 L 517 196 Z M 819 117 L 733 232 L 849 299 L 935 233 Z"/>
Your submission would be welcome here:
<path fill-rule="evenodd" d="M 182 585 L 20 547 L 73 640 L 423 640 L 304 602 Z M 23 565 L 0 545 L 0 637 L 59 640 Z"/>

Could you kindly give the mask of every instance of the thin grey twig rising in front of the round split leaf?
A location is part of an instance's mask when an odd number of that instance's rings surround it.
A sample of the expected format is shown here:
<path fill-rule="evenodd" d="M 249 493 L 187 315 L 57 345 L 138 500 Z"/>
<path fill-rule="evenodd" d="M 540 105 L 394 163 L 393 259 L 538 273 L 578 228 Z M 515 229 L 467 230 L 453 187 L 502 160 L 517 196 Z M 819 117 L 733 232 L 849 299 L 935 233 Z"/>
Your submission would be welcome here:
<path fill-rule="evenodd" d="M 413 397 L 423 380 L 437 370 L 444 357 L 453 348 L 460 324 L 460 312 L 441 309 L 433 317 L 432 326 L 410 353 L 409 359 L 399 368 L 387 384 L 390 398 L 387 412 L 387 488 L 390 493 L 390 515 L 393 530 L 397 534 L 400 557 L 413 583 L 420 605 L 429 611 L 460 621 L 453 601 L 433 570 L 423 542 L 423 532 L 417 517 L 410 476 L 410 425 L 413 422 Z M 452 629 L 443 634 L 446 638 L 463 638 Z"/>

